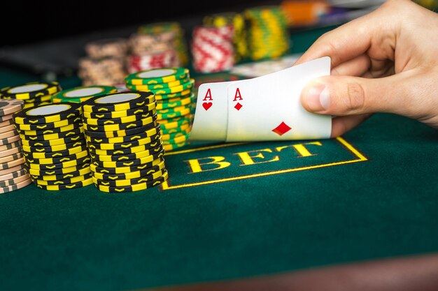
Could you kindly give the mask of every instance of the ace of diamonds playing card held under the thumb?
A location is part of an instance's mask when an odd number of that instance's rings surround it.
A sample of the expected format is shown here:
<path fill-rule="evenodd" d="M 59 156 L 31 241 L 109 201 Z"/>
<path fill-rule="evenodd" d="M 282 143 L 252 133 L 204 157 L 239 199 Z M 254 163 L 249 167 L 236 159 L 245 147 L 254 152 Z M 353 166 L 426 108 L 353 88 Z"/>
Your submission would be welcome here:
<path fill-rule="evenodd" d="M 227 142 L 329 138 L 332 117 L 313 114 L 299 100 L 304 86 L 330 75 L 330 57 L 228 85 Z"/>

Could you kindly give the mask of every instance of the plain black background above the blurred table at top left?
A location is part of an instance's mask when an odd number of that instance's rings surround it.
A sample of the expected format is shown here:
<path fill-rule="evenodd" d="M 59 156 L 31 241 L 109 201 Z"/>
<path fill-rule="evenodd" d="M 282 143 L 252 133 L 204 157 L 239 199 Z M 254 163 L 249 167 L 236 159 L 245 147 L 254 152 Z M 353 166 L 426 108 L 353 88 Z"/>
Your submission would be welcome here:
<path fill-rule="evenodd" d="M 202 16 L 281 1 L 3 1 L 1 47 L 158 21 L 202 21 Z M 6 20 L 6 16 L 11 20 Z"/>

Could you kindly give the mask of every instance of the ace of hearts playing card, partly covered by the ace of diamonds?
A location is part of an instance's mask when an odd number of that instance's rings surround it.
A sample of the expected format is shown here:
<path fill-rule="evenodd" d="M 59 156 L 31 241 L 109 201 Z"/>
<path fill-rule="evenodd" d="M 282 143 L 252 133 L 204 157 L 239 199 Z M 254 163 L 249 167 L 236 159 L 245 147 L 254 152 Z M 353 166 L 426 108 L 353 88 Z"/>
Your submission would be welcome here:
<path fill-rule="evenodd" d="M 190 140 L 225 141 L 227 137 L 227 88 L 232 82 L 199 86 Z"/>

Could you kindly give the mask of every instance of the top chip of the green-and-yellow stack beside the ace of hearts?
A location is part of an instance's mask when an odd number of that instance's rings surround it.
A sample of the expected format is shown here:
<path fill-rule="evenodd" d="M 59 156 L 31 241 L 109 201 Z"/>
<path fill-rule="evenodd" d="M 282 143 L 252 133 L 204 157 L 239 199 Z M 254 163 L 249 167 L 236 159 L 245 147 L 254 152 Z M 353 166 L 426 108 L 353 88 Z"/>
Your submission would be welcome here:
<path fill-rule="evenodd" d="M 158 68 L 133 73 L 125 78 L 127 84 L 148 85 L 169 83 L 189 77 L 188 68 Z"/>

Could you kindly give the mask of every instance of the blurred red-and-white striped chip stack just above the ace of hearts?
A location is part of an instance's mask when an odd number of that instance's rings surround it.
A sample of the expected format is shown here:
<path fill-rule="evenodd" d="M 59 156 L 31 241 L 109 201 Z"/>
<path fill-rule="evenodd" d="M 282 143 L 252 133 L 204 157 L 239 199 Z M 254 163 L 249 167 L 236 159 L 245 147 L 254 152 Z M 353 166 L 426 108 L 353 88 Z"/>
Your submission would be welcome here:
<path fill-rule="evenodd" d="M 192 64 L 200 73 L 230 70 L 234 66 L 233 27 L 199 26 L 193 29 Z"/>

